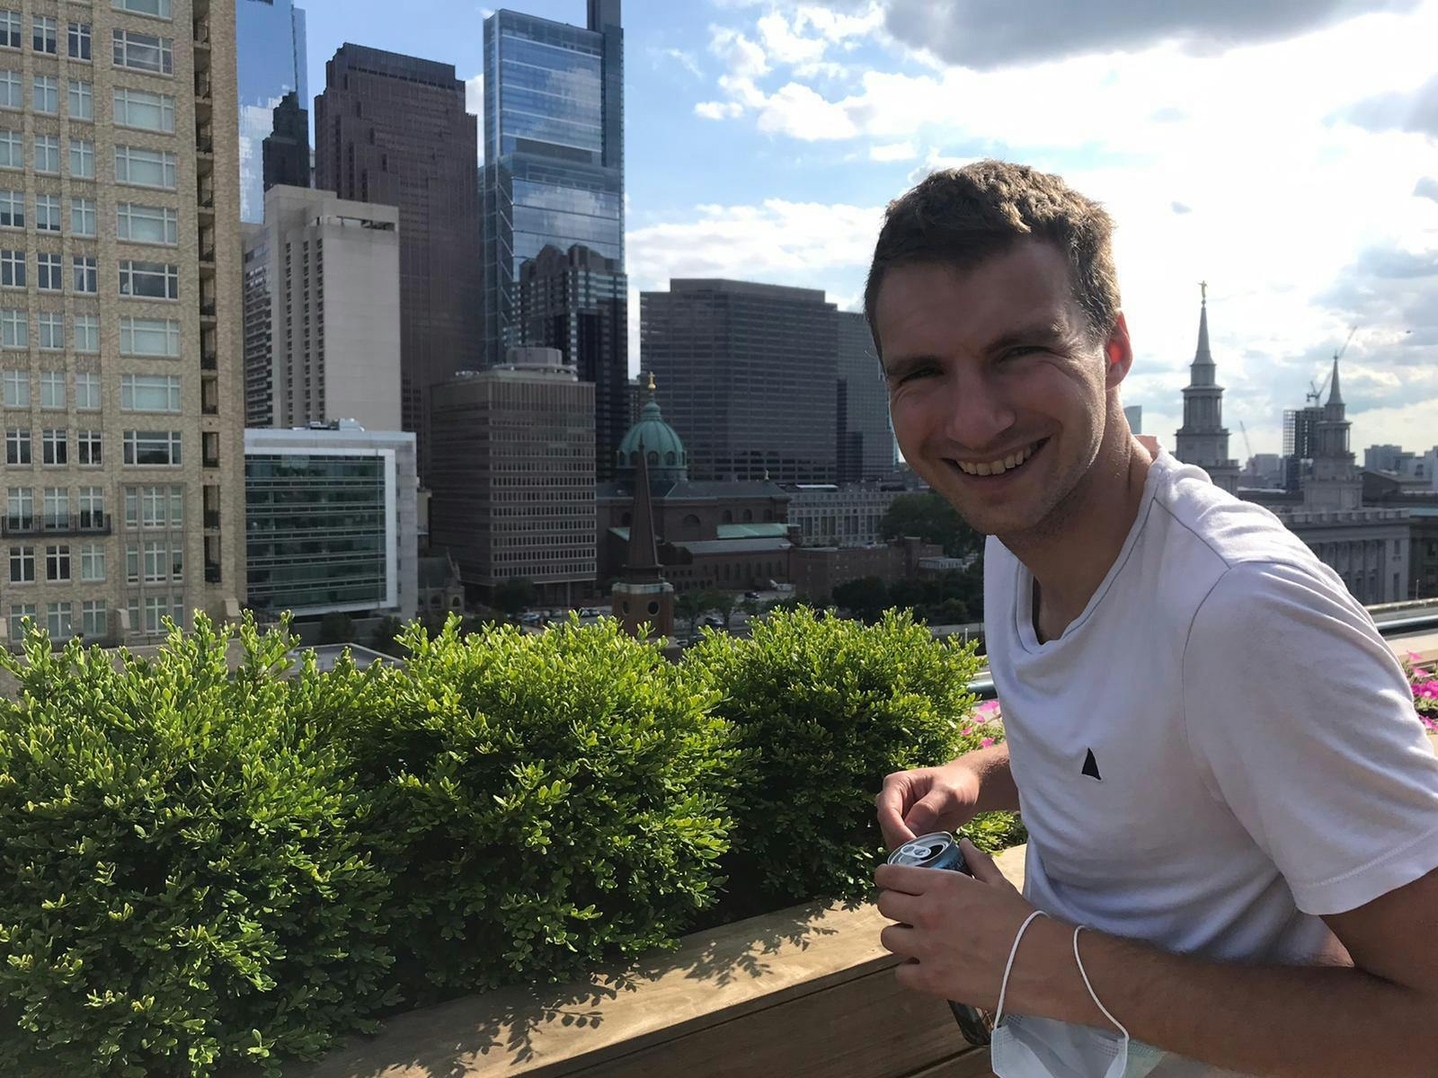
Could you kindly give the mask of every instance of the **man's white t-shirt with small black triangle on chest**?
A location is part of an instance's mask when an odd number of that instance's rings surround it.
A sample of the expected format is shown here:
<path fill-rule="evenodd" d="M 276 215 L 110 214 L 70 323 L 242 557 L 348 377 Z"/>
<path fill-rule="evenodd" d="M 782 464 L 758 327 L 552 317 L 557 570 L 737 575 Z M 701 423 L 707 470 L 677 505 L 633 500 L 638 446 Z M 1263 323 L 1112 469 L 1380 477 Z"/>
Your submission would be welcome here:
<path fill-rule="evenodd" d="M 991 538 L 985 637 L 1038 908 L 1303 963 L 1320 914 L 1438 867 L 1438 759 L 1402 670 L 1265 509 L 1160 453 L 1103 584 L 1044 644 L 1032 584 Z"/>

